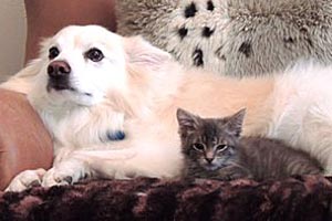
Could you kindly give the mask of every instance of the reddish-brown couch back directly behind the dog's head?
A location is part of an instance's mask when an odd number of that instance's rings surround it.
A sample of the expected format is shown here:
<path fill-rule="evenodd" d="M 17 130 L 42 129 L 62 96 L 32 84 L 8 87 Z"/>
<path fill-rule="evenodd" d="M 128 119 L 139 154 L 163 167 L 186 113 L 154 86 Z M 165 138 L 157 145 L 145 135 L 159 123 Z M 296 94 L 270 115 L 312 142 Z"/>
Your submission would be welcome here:
<path fill-rule="evenodd" d="M 24 0 L 27 10 L 25 62 L 38 56 L 39 42 L 69 24 L 100 24 L 116 29 L 115 0 Z"/>

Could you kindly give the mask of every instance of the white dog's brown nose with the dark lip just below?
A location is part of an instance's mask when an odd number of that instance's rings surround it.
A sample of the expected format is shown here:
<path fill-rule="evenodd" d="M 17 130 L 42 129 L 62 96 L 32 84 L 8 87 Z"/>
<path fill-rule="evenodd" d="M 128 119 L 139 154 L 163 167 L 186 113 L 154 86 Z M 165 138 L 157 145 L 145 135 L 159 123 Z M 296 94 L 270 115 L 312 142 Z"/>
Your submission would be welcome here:
<path fill-rule="evenodd" d="M 72 90 L 70 85 L 71 66 L 65 61 L 53 61 L 48 66 L 48 91 Z"/>

